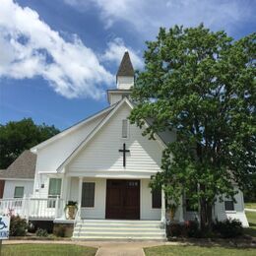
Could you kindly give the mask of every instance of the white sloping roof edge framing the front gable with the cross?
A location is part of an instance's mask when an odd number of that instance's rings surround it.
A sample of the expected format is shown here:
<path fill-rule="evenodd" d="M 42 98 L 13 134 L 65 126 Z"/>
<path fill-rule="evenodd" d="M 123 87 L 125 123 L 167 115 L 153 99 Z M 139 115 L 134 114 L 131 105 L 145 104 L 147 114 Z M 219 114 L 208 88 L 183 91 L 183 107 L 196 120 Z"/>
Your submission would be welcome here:
<path fill-rule="evenodd" d="M 101 120 L 96 126 L 96 128 L 86 137 L 84 141 L 71 153 L 71 155 L 64 160 L 59 167 L 57 168 L 57 171 L 62 170 L 71 160 L 73 160 L 86 145 L 95 137 L 96 133 L 104 126 L 104 124 L 113 116 L 113 114 L 123 105 L 124 103 L 127 103 L 131 108 L 133 108 L 133 104 L 131 101 L 125 96 L 122 100 L 117 102 L 115 107 L 108 113 L 107 116 L 104 117 L 104 119 Z M 146 126 L 148 124 L 146 123 Z M 156 135 L 157 141 L 160 143 L 160 145 L 164 148 L 165 143 L 161 140 L 159 135 Z"/>

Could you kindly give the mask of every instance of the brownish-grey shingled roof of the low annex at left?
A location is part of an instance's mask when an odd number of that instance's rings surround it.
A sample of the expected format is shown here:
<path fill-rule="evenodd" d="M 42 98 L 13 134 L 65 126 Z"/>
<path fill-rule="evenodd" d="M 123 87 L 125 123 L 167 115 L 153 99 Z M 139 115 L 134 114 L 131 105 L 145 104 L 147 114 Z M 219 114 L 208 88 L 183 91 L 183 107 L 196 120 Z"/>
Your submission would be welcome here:
<path fill-rule="evenodd" d="M 25 151 L 7 169 L 0 171 L 0 179 L 33 179 L 35 164 L 36 155 Z"/>

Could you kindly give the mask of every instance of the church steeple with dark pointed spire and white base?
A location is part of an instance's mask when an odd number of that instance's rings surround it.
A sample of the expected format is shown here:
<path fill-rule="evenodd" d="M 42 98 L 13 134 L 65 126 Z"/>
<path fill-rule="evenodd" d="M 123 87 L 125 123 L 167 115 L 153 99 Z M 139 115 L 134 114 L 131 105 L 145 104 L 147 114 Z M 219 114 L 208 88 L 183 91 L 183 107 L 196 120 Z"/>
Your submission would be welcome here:
<path fill-rule="evenodd" d="M 128 51 L 126 50 L 116 74 L 117 89 L 107 91 L 110 104 L 120 101 L 124 96 L 129 96 L 131 87 L 134 86 L 134 69 Z"/>

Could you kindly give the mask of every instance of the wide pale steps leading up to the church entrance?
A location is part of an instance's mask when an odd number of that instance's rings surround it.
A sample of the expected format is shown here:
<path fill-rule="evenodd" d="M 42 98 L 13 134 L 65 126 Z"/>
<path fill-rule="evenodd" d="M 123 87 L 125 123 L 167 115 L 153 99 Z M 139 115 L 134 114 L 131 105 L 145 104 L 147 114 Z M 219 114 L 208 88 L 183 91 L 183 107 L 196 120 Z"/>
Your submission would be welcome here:
<path fill-rule="evenodd" d="M 166 234 L 159 221 L 83 220 L 76 224 L 73 239 L 165 240 Z"/>

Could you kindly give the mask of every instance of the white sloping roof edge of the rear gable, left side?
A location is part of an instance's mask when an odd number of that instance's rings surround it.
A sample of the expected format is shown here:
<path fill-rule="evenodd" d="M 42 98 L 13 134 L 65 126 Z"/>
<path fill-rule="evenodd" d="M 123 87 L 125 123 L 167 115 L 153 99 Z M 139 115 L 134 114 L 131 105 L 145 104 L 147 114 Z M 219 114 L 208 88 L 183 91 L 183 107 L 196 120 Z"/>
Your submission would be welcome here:
<path fill-rule="evenodd" d="M 62 132 L 56 134 L 55 136 L 49 138 L 48 140 L 41 142 L 40 144 L 32 147 L 31 151 L 35 153 L 37 149 L 41 149 L 41 148 L 47 146 L 48 144 L 50 144 L 58 139 L 61 139 L 63 136 L 66 136 L 66 135 L 70 134 L 71 132 L 78 130 L 81 126 L 96 119 L 96 117 L 98 117 L 104 113 L 107 113 L 108 111 L 111 111 L 115 107 L 116 104 L 117 103 L 107 106 L 106 108 L 96 112 L 96 114 L 93 114 L 93 115 L 87 117 L 86 119 L 72 125 L 71 127 L 67 128 L 67 129 L 63 130 Z"/>

